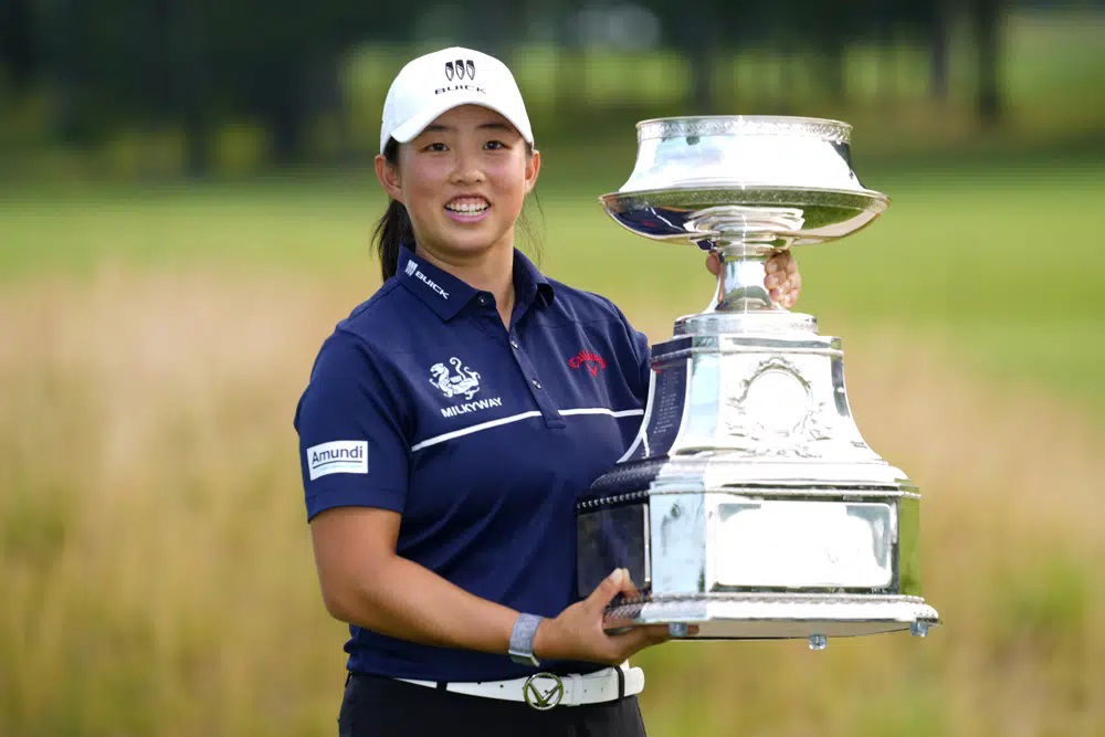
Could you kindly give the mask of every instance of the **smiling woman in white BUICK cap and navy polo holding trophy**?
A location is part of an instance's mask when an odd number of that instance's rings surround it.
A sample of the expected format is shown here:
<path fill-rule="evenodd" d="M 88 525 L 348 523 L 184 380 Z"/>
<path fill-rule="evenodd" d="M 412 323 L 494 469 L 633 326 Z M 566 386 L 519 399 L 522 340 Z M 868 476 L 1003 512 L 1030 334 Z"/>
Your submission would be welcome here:
<path fill-rule="evenodd" d="M 380 151 L 386 281 L 295 415 L 323 598 L 350 625 L 340 734 L 643 735 L 625 660 L 666 630 L 603 632 L 623 570 L 577 601 L 573 508 L 636 433 L 646 339 L 515 250 L 541 160 L 502 62 L 407 64 Z M 769 272 L 791 304 L 790 256 Z"/>

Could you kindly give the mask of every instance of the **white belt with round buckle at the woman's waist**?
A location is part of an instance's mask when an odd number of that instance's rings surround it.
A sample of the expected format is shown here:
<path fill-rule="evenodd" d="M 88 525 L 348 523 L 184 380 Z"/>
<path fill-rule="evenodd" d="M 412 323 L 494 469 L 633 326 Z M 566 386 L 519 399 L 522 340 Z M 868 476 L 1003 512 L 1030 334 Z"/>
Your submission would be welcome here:
<path fill-rule="evenodd" d="M 639 694 L 644 689 L 644 671 L 627 666 L 606 667 L 585 675 L 535 673 L 525 678 L 509 681 L 449 681 L 443 686 L 439 686 L 436 681 L 396 680 L 430 688 L 443 687 L 445 691 L 469 696 L 525 702 L 540 710 L 554 706 L 612 702 L 622 696 Z"/>

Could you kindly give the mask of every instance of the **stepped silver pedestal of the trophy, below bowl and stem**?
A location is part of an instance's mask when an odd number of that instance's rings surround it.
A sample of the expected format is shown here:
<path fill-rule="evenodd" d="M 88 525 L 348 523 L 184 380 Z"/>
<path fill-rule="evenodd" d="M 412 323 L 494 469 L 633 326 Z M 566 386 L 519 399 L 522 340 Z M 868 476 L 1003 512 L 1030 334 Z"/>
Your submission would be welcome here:
<path fill-rule="evenodd" d="M 641 430 L 576 506 L 580 598 L 611 568 L 642 592 L 608 628 L 820 649 L 939 623 L 920 598 L 917 487 L 864 442 L 840 341 L 815 326 L 713 312 L 653 346 Z"/>

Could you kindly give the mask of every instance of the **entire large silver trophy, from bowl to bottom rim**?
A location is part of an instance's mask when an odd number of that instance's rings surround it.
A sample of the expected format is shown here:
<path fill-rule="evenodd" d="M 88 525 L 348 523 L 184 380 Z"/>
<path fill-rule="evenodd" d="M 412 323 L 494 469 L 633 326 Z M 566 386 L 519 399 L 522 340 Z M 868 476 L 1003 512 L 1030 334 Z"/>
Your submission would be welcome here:
<path fill-rule="evenodd" d="M 628 568 L 611 627 L 696 639 L 827 638 L 939 619 L 920 597 L 917 487 L 860 435 L 839 338 L 771 303 L 764 263 L 843 238 L 886 197 L 852 170 L 851 126 L 798 117 L 644 120 L 627 229 L 715 250 L 712 307 L 652 348 L 636 440 L 577 506 L 579 591 Z M 690 625 L 697 625 L 697 632 Z"/>

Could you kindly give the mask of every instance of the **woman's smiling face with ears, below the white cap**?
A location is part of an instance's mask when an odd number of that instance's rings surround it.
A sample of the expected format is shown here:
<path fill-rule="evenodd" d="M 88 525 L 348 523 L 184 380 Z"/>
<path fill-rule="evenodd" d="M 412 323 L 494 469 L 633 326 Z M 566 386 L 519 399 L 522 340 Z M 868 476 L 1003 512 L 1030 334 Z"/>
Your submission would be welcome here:
<path fill-rule="evenodd" d="M 376 172 L 411 218 L 418 249 L 433 260 L 471 265 L 514 249 L 514 224 L 537 181 L 540 155 L 498 113 L 462 105 L 399 146 L 398 166 Z"/>

